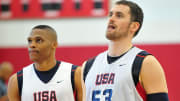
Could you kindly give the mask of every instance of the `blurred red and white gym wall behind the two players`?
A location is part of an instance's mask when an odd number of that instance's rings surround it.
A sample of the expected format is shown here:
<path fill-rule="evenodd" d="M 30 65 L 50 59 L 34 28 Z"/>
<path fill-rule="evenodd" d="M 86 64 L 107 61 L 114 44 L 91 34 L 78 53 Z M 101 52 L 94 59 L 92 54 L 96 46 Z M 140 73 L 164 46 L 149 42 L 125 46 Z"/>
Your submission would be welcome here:
<path fill-rule="evenodd" d="M 107 49 L 107 15 L 115 1 L 0 0 L 0 62 L 11 62 L 14 73 L 30 64 L 27 37 L 32 27 L 46 24 L 58 33 L 57 59 L 81 65 Z M 145 15 L 142 29 L 133 42 L 160 61 L 170 101 L 180 101 L 180 1 L 133 1 Z"/>

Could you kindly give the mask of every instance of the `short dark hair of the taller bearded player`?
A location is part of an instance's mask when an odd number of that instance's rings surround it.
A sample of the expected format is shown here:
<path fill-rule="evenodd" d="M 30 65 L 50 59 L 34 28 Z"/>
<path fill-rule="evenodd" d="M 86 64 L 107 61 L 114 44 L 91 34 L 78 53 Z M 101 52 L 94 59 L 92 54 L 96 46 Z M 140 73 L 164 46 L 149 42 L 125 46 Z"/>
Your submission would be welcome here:
<path fill-rule="evenodd" d="M 127 5 L 130 8 L 130 14 L 131 14 L 131 21 L 136 21 L 139 22 L 140 27 L 139 29 L 135 32 L 134 37 L 138 34 L 139 30 L 141 29 L 141 26 L 143 24 L 143 18 L 144 18 L 144 14 L 142 9 L 140 8 L 139 5 L 137 5 L 136 3 L 132 2 L 132 1 L 128 1 L 128 0 L 121 0 L 121 1 L 117 1 L 115 3 L 116 5 Z"/>

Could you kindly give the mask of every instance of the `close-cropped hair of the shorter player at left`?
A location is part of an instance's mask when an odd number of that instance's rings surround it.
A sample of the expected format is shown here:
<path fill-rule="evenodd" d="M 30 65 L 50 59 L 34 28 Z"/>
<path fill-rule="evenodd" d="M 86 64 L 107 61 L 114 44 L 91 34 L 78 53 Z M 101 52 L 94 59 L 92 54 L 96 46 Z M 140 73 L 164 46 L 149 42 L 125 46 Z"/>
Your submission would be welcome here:
<path fill-rule="evenodd" d="M 47 30 L 50 30 L 52 32 L 52 34 L 54 35 L 54 38 L 57 40 L 56 31 L 54 30 L 54 28 L 50 27 L 49 25 L 37 25 L 37 26 L 32 28 L 32 30 L 34 30 L 34 29 L 47 29 Z"/>

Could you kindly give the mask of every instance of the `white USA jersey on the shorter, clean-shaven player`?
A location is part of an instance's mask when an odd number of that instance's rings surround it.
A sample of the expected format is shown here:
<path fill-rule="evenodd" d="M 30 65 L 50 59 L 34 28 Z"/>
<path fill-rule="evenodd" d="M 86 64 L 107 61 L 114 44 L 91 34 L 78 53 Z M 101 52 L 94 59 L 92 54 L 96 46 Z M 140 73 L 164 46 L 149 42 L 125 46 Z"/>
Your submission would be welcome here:
<path fill-rule="evenodd" d="M 71 84 L 72 64 L 61 62 L 52 79 L 44 83 L 33 64 L 23 69 L 21 101 L 75 101 Z"/>

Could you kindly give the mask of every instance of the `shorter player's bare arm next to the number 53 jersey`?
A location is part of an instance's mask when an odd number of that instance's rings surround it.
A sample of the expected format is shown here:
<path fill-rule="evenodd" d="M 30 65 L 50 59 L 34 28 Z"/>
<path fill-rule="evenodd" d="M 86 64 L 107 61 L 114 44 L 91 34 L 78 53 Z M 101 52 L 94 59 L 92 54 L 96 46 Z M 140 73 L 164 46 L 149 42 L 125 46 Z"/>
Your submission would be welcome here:
<path fill-rule="evenodd" d="M 75 89 L 77 90 L 78 101 L 85 101 L 85 85 L 82 75 L 82 67 L 78 67 L 75 71 Z"/>

